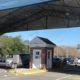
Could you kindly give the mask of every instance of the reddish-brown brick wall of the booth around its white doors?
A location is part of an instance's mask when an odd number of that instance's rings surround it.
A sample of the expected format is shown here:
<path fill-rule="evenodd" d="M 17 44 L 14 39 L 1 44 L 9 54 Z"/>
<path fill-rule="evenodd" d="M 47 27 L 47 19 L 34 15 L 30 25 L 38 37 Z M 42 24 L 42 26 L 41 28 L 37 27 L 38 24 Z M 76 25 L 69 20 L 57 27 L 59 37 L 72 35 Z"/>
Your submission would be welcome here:
<path fill-rule="evenodd" d="M 37 47 L 37 48 L 30 48 L 30 68 L 32 68 L 32 62 L 33 62 L 33 50 L 34 49 L 41 49 L 41 69 L 46 69 L 47 68 L 47 50 L 52 50 L 52 57 L 53 57 L 53 48 L 49 47 Z"/>

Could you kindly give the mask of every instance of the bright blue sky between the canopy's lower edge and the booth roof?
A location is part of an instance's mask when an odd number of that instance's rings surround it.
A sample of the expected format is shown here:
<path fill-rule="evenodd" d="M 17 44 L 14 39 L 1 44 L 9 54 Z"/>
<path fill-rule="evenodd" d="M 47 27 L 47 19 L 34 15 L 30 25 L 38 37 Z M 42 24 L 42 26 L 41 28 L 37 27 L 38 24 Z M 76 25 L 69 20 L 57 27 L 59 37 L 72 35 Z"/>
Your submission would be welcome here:
<path fill-rule="evenodd" d="M 61 29 L 49 29 L 49 30 L 35 30 L 14 32 L 5 34 L 8 36 L 16 37 L 21 36 L 22 40 L 31 40 L 37 36 L 48 38 L 59 46 L 72 46 L 76 47 L 80 44 L 80 28 L 61 28 Z"/>

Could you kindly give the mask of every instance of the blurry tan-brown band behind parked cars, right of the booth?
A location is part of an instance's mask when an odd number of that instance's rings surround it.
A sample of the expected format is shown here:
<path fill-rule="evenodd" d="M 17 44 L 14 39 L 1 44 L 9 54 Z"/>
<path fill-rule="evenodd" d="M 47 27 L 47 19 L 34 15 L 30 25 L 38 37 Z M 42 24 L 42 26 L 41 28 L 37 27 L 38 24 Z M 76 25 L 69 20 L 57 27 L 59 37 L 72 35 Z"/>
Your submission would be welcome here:
<path fill-rule="evenodd" d="M 69 56 L 69 57 L 80 57 L 80 52 L 78 51 L 78 49 L 76 48 L 73 48 L 73 47 L 59 47 L 59 46 L 56 46 L 54 48 L 54 56 L 62 56 L 62 57 L 66 57 L 66 56 Z"/>

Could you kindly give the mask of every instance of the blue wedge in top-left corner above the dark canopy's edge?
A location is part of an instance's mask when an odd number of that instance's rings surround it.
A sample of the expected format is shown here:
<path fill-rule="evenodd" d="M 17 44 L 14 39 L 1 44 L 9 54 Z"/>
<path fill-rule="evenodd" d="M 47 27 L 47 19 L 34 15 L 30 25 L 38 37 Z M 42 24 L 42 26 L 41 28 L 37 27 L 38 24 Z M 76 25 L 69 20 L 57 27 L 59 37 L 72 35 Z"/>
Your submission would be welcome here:
<path fill-rule="evenodd" d="M 40 3 L 49 0 L 0 0 L 0 10 Z"/>

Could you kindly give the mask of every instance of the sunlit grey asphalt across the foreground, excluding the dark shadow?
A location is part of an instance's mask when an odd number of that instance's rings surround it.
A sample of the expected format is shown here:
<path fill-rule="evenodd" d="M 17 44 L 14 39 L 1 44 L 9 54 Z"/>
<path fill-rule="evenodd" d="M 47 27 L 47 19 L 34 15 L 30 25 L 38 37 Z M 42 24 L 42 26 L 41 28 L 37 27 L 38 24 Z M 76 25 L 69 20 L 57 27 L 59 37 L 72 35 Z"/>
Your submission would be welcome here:
<path fill-rule="evenodd" d="M 46 72 L 35 75 L 16 75 L 3 71 L 3 73 L 0 72 L 0 80 L 80 80 L 80 76 L 59 72 Z"/>

